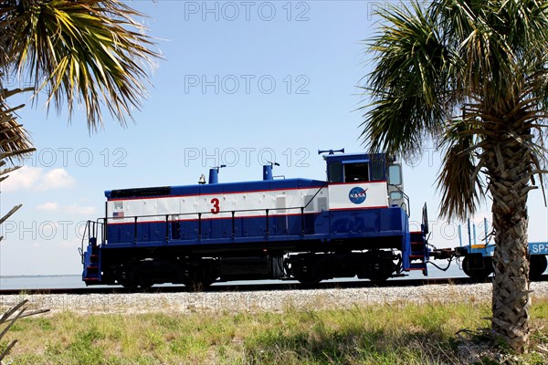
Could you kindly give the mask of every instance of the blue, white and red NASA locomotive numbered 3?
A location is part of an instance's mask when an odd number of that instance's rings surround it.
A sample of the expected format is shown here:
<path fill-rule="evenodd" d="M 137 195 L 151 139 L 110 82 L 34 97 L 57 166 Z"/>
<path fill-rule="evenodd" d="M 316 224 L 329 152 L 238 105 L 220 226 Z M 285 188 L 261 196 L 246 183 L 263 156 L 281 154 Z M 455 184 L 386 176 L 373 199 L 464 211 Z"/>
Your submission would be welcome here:
<path fill-rule="evenodd" d="M 327 151 L 326 151 L 327 152 Z M 409 231 L 401 165 L 385 154 L 324 154 L 325 181 L 263 179 L 105 192 L 82 247 L 87 285 L 427 275 L 427 227 Z M 424 219 L 427 223 L 427 220 Z"/>

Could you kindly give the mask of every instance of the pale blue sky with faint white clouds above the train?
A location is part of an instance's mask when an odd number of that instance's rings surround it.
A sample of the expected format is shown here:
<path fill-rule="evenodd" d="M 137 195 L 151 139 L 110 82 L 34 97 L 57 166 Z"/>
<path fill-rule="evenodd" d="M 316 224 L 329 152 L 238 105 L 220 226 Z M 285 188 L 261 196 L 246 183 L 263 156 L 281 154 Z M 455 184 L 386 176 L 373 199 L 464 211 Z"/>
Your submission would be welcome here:
<path fill-rule="evenodd" d="M 1 228 L 0 276 L 81 273 L 82 228 L 104 214 L 106 190 L 194 184 L 220 164 L 219 182 L 260 180 L 270 161 L 275 175 L 324 180 L 319 149 L 365 149 L 357 109 L 372 63 L 363 41 L 379 31 L 374 10 L 390 4 L 130 2 L 163 54 L 142 110 L 126 128 L 105 114 L 90 134 L 82 110 L 68 123 L 44 96 L 34 107 L 22 100 L 19 121 L 37 152 L 0 185 L 0 214 L 24 204 Z M 406 163 L 411 222 L 427 203 L 430 243 L 455 247 L 459 223 L 437 217 L 439 167 L 433 142 Z M 548 241 L 542 193 L 528 205 L 530 241 Z M 471 217 L 479 237 L 489 212 L 488 198 Z"/>

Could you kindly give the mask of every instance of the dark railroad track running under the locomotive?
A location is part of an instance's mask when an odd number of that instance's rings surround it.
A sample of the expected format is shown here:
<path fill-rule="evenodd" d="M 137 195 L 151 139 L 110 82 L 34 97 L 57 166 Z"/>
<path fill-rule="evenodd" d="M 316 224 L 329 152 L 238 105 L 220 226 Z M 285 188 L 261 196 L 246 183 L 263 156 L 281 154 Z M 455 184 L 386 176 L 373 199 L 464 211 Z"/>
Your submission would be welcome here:
<path fill-rule="evenodd" d="M 548 281 L 548 275 L 543 275 L 535 281 Z M 304 285 L 299 283 L 271 283 L 271 284 L 223 284 L 206 287 L 204 292 L 252 292 L 263 290 L 308 290 L 308 289 L 324 289 L 324 288 L 351 288 L 351 287 L 420 287 L 430 285 L 469 285 L 479 283 L 490 283 L 490 278 L 476 279 L 471 277 L 448 277 L 448 278 L 424 278 L 424 279 L 391 279 L 383 283 L 356 280 L 356 281 L 340 281 L 327 282 L 315 285 Z M 142 289 L 127 289 L 124 287 L 79 287 L 79 288 L 39 288 L 39 289 L 0 289 L 0 296 L 4 295 L 35 295 L 35 294 L 73 294 L 73 295 L 88 295 L 88 294 L 129 294 L 129 293 L 178 293 L 188 292 L 189 287 L 170 286 L 170 287 L 151 287 L 148 290 Z"/>

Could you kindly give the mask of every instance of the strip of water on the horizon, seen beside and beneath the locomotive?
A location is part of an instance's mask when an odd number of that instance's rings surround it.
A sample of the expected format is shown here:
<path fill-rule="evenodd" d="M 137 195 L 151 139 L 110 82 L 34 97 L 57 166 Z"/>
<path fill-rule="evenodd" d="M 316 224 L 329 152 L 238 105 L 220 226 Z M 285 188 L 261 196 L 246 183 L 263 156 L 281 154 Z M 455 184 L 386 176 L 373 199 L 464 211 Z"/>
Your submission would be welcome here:
<path fill-rule="evenodd" d="M 445 267 L 447 262 L 436 262 L 438 266 Z M 420 279 L 425 278 L 421 272 L 411 272 L 406 277 L 399 277 L 398 279 Z M 456 263 L 452 263 L 448 268 L 448 271 L 438 270 L 434 266 L 428 266 L 428 276 L 432 278 L 437 277 L 466 277 L 466 275 L 460 270 Z M 356 278 L 339 278 L 326 280 L 325 282 L 347 282 L 355 281 Z M 255 281 L 233 281 L 229 283 L 216 283 L 215 285 L 248 285 L 248 284 L 279 284 L 279 280 L 255 280 Z M 285 281 L 285 283 L 298 283 L 297 281 Z M 163 286 L 170 287 L 166 284 Z M 56 276 L 0 276 L 0 290 L 13 290 L 13 289 L 64 289 L 64 288 L 80 288 L 86 287 L 82 281 L 81 275 L 56 275 Z M 101 287 L 101 286 L 98 286 Z M 158 287 L 158 286 L 155 286 Z"/>

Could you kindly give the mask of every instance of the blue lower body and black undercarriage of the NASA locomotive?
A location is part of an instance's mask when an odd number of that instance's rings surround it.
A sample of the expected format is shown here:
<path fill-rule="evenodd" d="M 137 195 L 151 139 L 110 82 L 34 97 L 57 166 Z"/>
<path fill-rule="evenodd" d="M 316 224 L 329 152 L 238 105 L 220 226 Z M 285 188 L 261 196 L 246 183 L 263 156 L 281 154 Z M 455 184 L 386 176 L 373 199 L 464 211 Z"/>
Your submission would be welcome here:
<path fill-rule="evenodd" d="M 128 287 L 217 278 L 382 280 L 416 265 L 410 262 L 407 220 L 399 207 L 136 224 L 110 220 L 101 231 L 106 239 L 93 244 L 98 258 L 85 257 L 90 267 L 84 279 Z"/>

